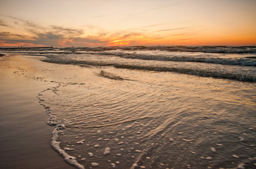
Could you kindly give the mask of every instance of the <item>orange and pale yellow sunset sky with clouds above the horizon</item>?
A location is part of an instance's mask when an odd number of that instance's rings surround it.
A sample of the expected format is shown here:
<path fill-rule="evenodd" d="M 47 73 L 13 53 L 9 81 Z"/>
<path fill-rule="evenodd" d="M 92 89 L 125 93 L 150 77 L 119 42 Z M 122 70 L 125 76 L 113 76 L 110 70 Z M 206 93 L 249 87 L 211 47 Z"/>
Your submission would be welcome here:
<path fill-rule="evenodd" d="M 0 1 L 0 47 L 159 45 L 256 45 L 256 1 Z"/>

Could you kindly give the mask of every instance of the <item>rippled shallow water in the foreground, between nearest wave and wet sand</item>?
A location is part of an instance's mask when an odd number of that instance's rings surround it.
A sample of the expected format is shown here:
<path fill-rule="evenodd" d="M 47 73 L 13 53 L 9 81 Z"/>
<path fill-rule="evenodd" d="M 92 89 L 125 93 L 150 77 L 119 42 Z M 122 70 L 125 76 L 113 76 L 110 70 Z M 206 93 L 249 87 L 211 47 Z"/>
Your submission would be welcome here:
<path fill-rule="evenodd" d="M 61 149 L 74 149 L 66 152 L 85 168 L 254 166 L 255 84 L 93 69 L 96 83 L 59 83 L 39 96 L 56 121 L 65 119 Z"/>

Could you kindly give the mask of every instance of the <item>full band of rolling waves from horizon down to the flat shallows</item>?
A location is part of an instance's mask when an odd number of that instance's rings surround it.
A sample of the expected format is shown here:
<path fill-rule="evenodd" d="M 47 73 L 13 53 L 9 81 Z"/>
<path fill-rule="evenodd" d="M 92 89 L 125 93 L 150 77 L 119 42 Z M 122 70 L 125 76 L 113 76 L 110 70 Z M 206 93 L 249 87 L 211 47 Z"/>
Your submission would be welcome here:
<path fill-rule="evenodd" d="M 46 57 L 44 61 L 58 64 L 114 66 L 237 81 L 256 81 L 255 46 L 68 47 L 7 50 L 7 52 L 44 56 Z"/>

